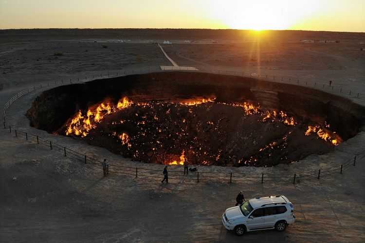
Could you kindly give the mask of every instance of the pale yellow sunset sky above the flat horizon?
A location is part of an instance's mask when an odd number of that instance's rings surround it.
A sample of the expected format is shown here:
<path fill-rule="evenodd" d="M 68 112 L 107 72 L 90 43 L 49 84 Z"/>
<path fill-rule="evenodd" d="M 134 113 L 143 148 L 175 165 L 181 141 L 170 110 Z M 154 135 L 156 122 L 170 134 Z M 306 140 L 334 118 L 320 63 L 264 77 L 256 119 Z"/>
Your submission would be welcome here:
<path fill-rule="evenodd" d="M 0 29 L 365 32 L 365 0 L 0 0 Z"/>

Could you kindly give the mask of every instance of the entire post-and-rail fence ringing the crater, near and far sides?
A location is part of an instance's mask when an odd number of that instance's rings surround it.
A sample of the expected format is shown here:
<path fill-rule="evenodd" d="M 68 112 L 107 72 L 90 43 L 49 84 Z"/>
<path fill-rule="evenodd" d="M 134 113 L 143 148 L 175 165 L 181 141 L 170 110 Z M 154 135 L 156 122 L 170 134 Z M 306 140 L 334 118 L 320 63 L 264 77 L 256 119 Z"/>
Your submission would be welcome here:
<path fill-rule="evenodd" d="M 178 69 L 179 68 L 179 69 Z M 164 69 L 163 71 L 168 70 L 168 69 Z M 216 70 L 216 69 L 200 69 L 200 70 L 191 70 L 191 69 L 182 69 L 180 67 L 173 67 L 171 68 L 172 71 L 177 71 L 177 70 L 184 70 L 184 71 L 193 71 L 193 72 L 209 72 L 210 73 L 216 73 L 216 74 L 225 74 L 225 75 L 238 75 L 238 76 L 249 76 L 249 77 L 258 77 L 258 78 L 262 78 L 262 79 L 273 79 L 275 81 L 279 80 L 279 82 L 287 82 L 287 83 L 292 83 L 292 84 L 304 84 L 304 81 L 299 81 L 299 79 L 295 80 L 292 78 L 284 78 L 284 77 L 278 77 L 278 76 L 270 76 L 270 75 L 263 75 L 263 74 L 258 74 L 258 73 L 250 73 L 250 72 L 237 72 L 237 71 L 229 71 L 229 70 Z M 126 74 L 142 74 L 142 73 L 150 73 L 150 72 L 159 72 L 161 70 L 159 70 L 159 68 L 156 69 L 139 69 L 139 70 L 124 70 L 124 71 L 119 71 L 119 72 L 115 72 L 115 73 L 104 73 L 104 74 L 99 74 L 99 75 L 92 75 L 90 77 L 85 76 L 84 78 L 70 78 L 70 79 L 59 79 L 58 81 L 53 82 L 47 82 L 47 87 L 52 86 L 53 84 L 56 86 L 58 85 L 63 85 L 63 84 L 73 84 L 73 82 L 84 82 L 85 80 L 88 79 L 96 79 L 96 78 L 105 78 L 105 77 L 113 77 L 118 76 L 119 75 L 126 75 Z M 351 95 L 351 90 L 347 90 L 344 88 L 339 88 L 339 87 L 334 87 L 334 86 L 325 86 L 325 84 L 320 84 L 317 82 L 311 82 L 311 81 L 305 81 L 305 85 L 308 84 L 312 84 L 314 85 L 314 87 L 316 86 L 322 86 L 323 88 L 331 88 L 331 90 L 339 90 L 341 93 L 345 93 L 348 95 Z M 28 89 L 22 90 L 20 91 L 18 94 L 16 94 L 15 96 L 13 96 L 5 105 L 4 105 L 4 114 L 3 114 L 3 125 L 4 125 L 4 129 L 6 128 L 6 121 L 5 121 L 5 115 L 6 115 L 6 110 L 10 107 L 11 104 L 14 103 L 14 101 L 18 100 L 21 96 L 23 96 L 24 94 L 27 94 L 31 91 L 37 90 L 37 89 L 41 89 L 42 87 L 46 87 L 45 85 L 42 86 L 42 84 L 40 84 L 39 87 L 33 86 L 30 87 Z M 354 94 L 354 93 L 352 93 Z M 365 99 L 365 95 L 357 93 L 357 97 L 361 98 L 361 99 Z M 14 130 L 14 129 L 13 129 Z M 12 128 L 9 125 L 9 131 L 10 133 L 12 133 Z M 87 155 L 78 153 L 77 151 L 74 151 L 72 149 L 69 149 L 63 145 L 60 145 L 58 143 L 55 143 L 51 140 L 48 139 L 44 139 L 42 137 L 39 137 L 37 135 L 33 135 L 27 132 L 23 132 L 20 130 L 14 130 L 15 131 L 15 136 L 18 137 L 18 135 L 23 135 L 25 137 L 26 140 L 31 140 L 34 142 L 37 142 L 37 144 L 42 144 L 42 145 L 46 145 L 48 147 L 50 147 L 50 150 L 56 150 L 59 151 L 61 153 L 63 153 L 64 156 L 70 156 L 73 157 L 81 162 L 84 162 L 85 164 L 89 164 L 94 168 L 97 169 L 102 169 L 101 167 L 101 160 L 89 157 Z M 285 180 L 292 180 L 293 184 L 295 184 L 295 180 L 305 180 L 305 179 L 313 179 L 313 178 L 317 178 L 320 179 L 321 176 L 325 176 L 325 175 L 329 175 L 329 174 L 338 174 L 340 171 L 340 174 L 342 174 L 343 171 L 345 171 L 347 168 L 349 168 L 351 165 L 355 166 L 356 163 L 356 159 L 359 161 L 360 159 L 364 158 L 365 154 L 361 154 L 359 155 L 357 158 L 356 156 L 354 156 L 354 158 L 350 158 L 347 161 L 343 162 L 341 165 L 333 165 L 331 167 L 328 168 L 322 168 L 319 170 L 314 170 L 314 171 L 309 171 L 309 172 L 300 172 L 300 173 L 294 173 L 294 174 L 263 174 L 263 173 L 233 173 L 233 172 L 204 172 L 204 171 L 200 171 L 200 172 L 190 172 L 190 175 L 183 175 L 181 174 L 181 171 L 169 171 L 170 174 L 170 179 L 190 179 L 190 180 L 197 180 L 198 182 L 200 180 L 219 180 L 219 181 L 261 181 L 261 183 L 264 182 L 266 180 L 276 180 L 276 179 L 285 179 Z M 108 173 L 118 173 L 118 174 L 129 174 L 129 175 L 135 175 L 136 177 L 139 176 L 144 176 L 144 177 L 153 177 L 153 178 L 161 178 L 162 177 L 162 173 L 160 170 L 156 170 L 156 169 L 150 169 L 150 168 L 143 168 L 143 167 L 128 167 L 128 166 L 122 166 L 122 165 L 112 165 L 109 164 L 108 165 Z M 193 174 L 192 174 L 193 173 Z M 282 175 L 282 176 L 280 176 Z M 181 176 L 184 176 L 183 178 L 180 178 Z"/>

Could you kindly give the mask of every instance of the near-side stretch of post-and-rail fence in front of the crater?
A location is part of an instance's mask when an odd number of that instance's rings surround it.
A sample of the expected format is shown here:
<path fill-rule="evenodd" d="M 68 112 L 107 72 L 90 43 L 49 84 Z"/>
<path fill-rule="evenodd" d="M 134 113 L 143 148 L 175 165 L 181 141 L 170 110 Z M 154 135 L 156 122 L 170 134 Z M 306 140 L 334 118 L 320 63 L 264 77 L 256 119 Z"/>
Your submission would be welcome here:
<path fill-rule="evenodd" d="M 28 141 L 33 141 L 40 145 L 45 145 L 50 148 L 50 150 L 55 150 L 57 152 L 62 153 L 64 156 L 71 156 L 85 164 L 89 164 L 97 169 L 102 170 L 101 167 L 101 159 L 95 159 L 91 156 L 87 156 L 85 154 L 81 154 L 77 151 L 67 148 L 66 146 L 60 145 L 56 142 L 53 142 L 49 139 L 44 139 L 40 136 L 30 134 L 27 132 L 19 131 L 17 129 L 12 129 L 9 126 L 9 132 L 14 133 L 15 137 L 24 137 Z M 353 158 L 347 159 L 341 164 L 333 165 L 327 168 L 320 168 L 318 170 L 307 171 L 307 172 L 297 172 L 293 174 L 274 174 L 274 173 L 239 173 L 239 172 L 230 172 L 227 169 L 221 172 L 204 172 L 204 171 L 196 171 L 190 172 L 190 174 L 183 174 L 183 166 L 180 168 L 182 170 L 169 171 L 169 179 L 175 180 L 196 180 L 200 181 L 229 181 L 229 182 L 245 182 L 245 181 L 257 181 L 264 183 L 267 181 L 270 182 L 298 182 L 299 180 L 308 180 L 308 179 L 320 179 L 320 177 L 331 175 L 331 174 L 342 174 L 345 170 L 347 170 L 351 165 L 355 166 L 356 161 L 359 161 L 365 157 L 365 154 L 354 156 Z M 223 168 L 223 167 L 222 167 Z M 127 174 L 133 175 L 135 177 L 152 177 L 161 179 L 162 170 L 144 168 L 144 167 L 131 167 L 131 166 L 122 166 L 115 164 L 108 164 L 108 174 Z"/>

